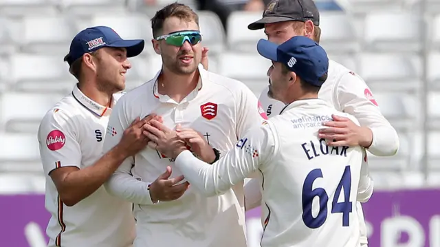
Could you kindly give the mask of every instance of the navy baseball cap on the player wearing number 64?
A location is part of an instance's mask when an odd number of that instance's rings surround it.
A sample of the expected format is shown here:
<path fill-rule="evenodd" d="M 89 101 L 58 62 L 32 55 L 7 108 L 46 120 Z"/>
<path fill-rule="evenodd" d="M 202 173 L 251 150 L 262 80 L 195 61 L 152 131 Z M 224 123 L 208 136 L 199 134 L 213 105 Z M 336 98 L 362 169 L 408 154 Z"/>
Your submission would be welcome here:
<path fill-rule="evenodd" d="M 256 50 L 267 59 L 283 63 L 306 83 L 318 87 L 324 83 L 320 78 L 329 70 L 325 50 L 305 36 L 294 36 L 281 45 L 260 39 Z"/>

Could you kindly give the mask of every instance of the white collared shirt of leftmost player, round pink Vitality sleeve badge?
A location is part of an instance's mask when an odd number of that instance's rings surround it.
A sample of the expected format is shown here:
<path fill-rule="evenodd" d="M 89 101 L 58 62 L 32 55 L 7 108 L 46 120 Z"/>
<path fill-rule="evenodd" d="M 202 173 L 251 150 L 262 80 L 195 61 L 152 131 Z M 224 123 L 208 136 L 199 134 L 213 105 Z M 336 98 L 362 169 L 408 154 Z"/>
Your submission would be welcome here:
<path fill-rule="evenodd" d="M 121 94 L 113 95 L 112 105 Z M 49 246 L 126 247 L 135 237 L 132 206 L 101 186 L 74 206 L 65 206 L 50 172 L 60 167 L 84 169 L 102 155 L 111 108 L 87 98 L 77 86 L 44 116 L 39 127 L 41 161 L 46 175 L 45 206 Z"/>

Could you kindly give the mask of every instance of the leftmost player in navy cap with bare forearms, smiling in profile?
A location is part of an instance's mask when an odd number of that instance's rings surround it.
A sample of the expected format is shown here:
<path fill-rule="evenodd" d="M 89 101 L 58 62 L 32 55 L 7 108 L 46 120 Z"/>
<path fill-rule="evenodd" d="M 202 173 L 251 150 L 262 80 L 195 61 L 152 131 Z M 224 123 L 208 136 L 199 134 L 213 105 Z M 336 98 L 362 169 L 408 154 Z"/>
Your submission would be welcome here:
<path fill-rule="evenodd" d="M 107 128 L 111 108 L 125 87 L 144 41 L 124 40 L 111 28 L 87 28 L 72 40 L 64 61 L 78 79 L 72 94 L 45 114 L 39 127 L 41 162 L 46 175 L 45 206 L 51 214 L 48 246 L 128 247 L 135 237 L 131 204 L 112 197 L 104 182 L 122 161 L 143 149 L 148 138 L 137 119 L 124 133 Z M 106 135 L 123 135 L 102 156 Z"/>

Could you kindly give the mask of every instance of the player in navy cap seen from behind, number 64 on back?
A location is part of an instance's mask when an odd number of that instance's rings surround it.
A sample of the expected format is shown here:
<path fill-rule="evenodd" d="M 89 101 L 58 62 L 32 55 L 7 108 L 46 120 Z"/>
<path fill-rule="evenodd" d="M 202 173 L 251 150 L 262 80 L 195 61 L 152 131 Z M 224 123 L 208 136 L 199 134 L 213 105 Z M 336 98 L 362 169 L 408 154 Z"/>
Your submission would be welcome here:
<path fill-rule="evenodd" d="M 257 50 L 274 65 L 271 91 L 286 105 L 280 115 L 250 129 L 212 165 L 192 155 L 179 140 L 158 144 L 157 149 L 175 158 L 179 171 L 206 196 L 224 193 L 259 172 L 262 247 L 359 246 L 355 201 L 371 195 L 364 148 L 329 147 L 317 135 L 333 115 L 358 124 L 318 98 L 329 68 L 325 50 L 304 36 L 281 45 L 262 39 Z M 197 144 L 210 149 L 202 138 Z"/>

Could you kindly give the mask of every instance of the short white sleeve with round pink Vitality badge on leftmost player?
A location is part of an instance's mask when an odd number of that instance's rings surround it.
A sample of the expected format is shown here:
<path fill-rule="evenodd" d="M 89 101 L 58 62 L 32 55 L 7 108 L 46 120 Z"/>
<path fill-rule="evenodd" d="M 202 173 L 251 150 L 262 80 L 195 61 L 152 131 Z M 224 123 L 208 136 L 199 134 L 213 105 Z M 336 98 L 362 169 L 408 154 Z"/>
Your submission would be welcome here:
<path fill-rule="evenodd" d="M 45 174 L 60 167 L 81 166 L 76 122 L 62 109 L 54 109 L 41 121 L 38 139 Z"/>

